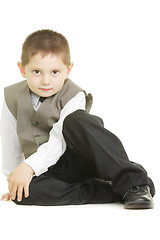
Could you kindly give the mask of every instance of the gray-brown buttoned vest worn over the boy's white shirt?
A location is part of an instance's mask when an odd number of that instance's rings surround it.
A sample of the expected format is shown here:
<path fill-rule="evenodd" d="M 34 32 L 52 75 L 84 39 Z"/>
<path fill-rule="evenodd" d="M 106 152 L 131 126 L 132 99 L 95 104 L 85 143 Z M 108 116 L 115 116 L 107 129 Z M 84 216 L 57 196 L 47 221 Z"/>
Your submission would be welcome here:
<path fill-rule="evenodd" d="M 26 80 L 4 89 L 6 104 L 17 120 L 17 135 L 25 158 L 31 156 L 41 144 L 48 141 L 49 132 L 53 124 L 59 120 L 62 108 L 80 91 L 83 90 L 67 79 L 63 88 L 57 94 L 46 98 L 36 112 Z M 92 96 L 86 93 L 85 95 L 86 111 L 89 112 Z"/>

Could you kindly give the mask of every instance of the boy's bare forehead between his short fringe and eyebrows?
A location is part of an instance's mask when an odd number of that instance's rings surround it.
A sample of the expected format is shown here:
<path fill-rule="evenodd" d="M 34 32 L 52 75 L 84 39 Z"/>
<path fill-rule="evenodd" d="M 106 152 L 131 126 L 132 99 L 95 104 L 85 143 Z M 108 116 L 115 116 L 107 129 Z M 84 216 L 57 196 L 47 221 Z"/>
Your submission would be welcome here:
<path fill-rule="evenodd" d="M 41 68 L 41 69 L 65 67 L 65 64 L 62 61 L 61 55 L 55 55 L 55 54 L 44 55 L 42 53 L 38 53 L 30 57 L 29 63 L 27 65 L 29 67 Z"/>

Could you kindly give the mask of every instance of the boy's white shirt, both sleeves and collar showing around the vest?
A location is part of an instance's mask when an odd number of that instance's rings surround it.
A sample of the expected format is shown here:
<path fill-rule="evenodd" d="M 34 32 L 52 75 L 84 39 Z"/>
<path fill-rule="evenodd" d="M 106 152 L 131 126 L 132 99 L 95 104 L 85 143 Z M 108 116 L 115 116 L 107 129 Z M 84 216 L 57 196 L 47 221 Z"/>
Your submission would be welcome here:
<path fill-rule="evenodd" d="M 41 104 L 39 96 L 31 94 L 31 98 L 33 107 L 37 111 Z M 66 150 L 66 143 L 62 134 L 63 121 L 70 113 L 78 109 L 85 110 L 85 104 L 84 92 L 79 92 L 68 101 L 61 111 L 59 121 L 53 124 L 48 142 L 42 144 L 38 147 L 37 152 L 25 159 L 17 136 L 17 121 L 4 100 L 0 122 L 3 173 L 8 176 L 23 161 L 34 170 L 36 176 L 39 176 L 46 172 L 50 166 L 56 164 Z"/>

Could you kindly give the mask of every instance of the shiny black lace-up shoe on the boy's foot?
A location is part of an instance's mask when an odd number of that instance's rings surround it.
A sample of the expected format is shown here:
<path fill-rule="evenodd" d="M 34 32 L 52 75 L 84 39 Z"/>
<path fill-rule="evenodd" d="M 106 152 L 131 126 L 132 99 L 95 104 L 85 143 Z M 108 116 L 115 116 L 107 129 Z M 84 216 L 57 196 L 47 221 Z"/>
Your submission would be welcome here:
<path fill-rule="evenodd" d="M 125 209 L 153 208 L 153 199 L 148 185 L 131 187 L 126 192 L 123 199 Z"/>

